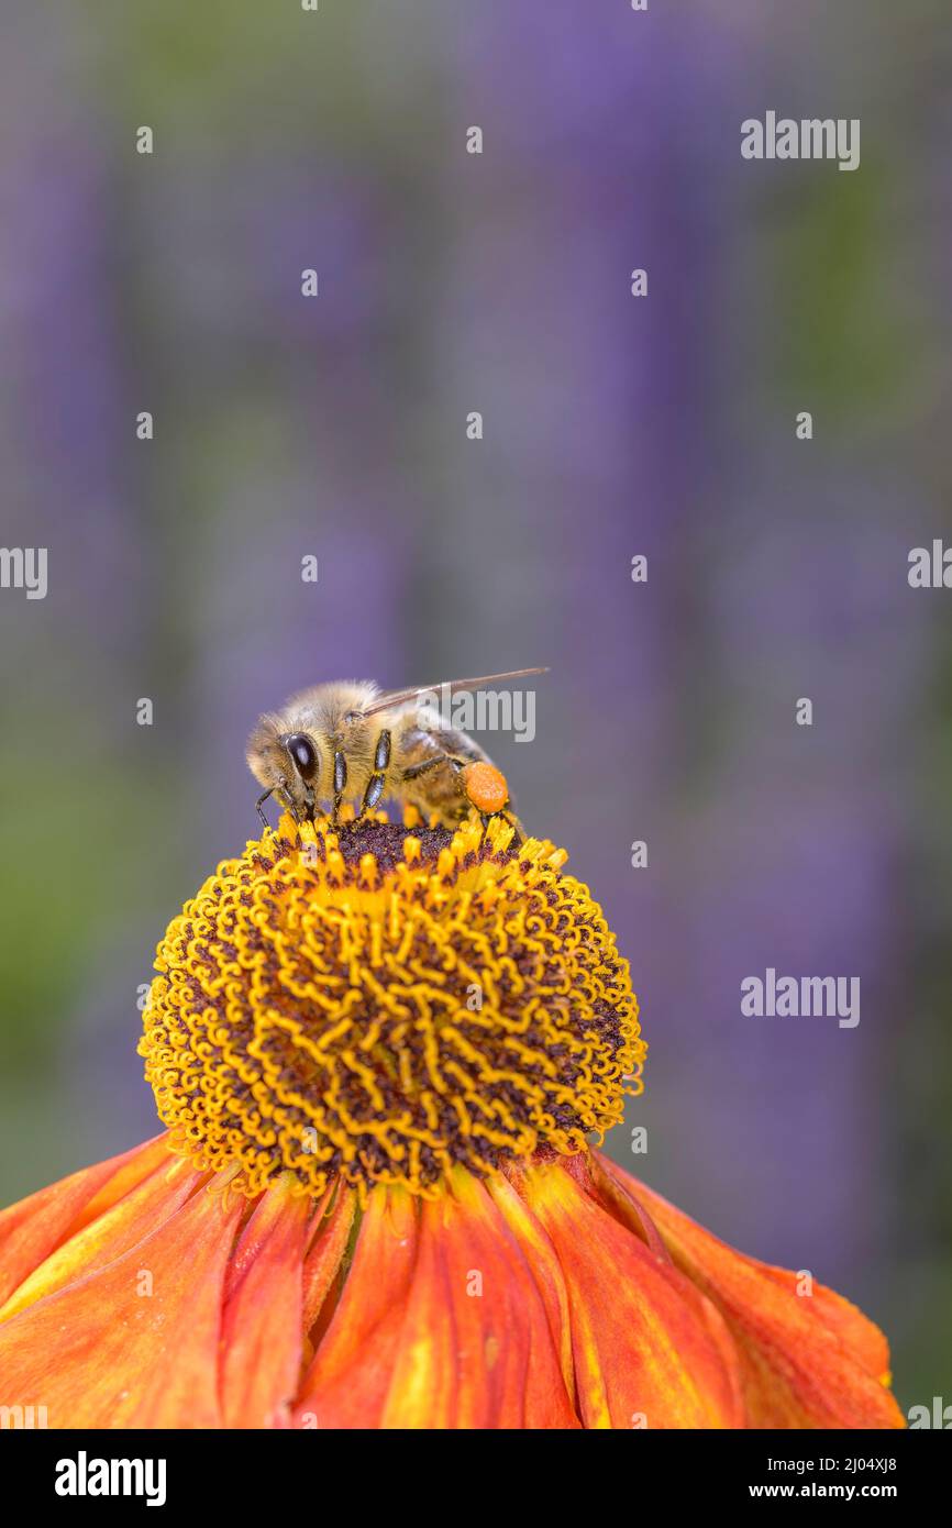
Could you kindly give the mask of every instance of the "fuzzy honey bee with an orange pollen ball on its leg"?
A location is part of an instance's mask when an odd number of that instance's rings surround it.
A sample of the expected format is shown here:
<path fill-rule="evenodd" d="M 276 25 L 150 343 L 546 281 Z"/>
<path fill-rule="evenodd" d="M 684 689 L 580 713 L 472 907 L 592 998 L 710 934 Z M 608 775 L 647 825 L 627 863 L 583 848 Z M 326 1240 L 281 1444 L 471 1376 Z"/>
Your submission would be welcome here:
<path fill-rule="evenodd" d="M 364 816 L 388 798 L 442 827 L 475 807 L 486 827 L 510 807 L 506 776 L 478 743 L 443 721 L 432 695 L 546 672 L 515 669 L 388 694 L 370 681 L 342 680 L 292 695 L 280 711 L 263 715 L 248 740 L 248 767 L 264 787 L 255 802 L 264 828 L 269 796 L 296 822 L 313 822 L 321 802 L 330 804 L 336 822 L 345 801 L 359 802 L 358 816 Z"/>

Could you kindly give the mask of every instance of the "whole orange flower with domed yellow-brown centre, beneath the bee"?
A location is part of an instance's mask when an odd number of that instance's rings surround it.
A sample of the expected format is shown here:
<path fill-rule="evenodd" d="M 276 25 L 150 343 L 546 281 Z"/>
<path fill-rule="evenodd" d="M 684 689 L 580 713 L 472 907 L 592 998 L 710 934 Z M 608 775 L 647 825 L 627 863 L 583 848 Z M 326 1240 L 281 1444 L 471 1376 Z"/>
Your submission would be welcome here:
<path fill-rule="evenodd" d="M 0 1404 L 50 1427 L 899 1427 L 877 1328 L 590 1144 L 627 963 L 552 843 L 277 834 L 159 946 L 167 1129 L 0 1215 Z"/>

